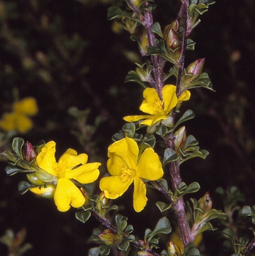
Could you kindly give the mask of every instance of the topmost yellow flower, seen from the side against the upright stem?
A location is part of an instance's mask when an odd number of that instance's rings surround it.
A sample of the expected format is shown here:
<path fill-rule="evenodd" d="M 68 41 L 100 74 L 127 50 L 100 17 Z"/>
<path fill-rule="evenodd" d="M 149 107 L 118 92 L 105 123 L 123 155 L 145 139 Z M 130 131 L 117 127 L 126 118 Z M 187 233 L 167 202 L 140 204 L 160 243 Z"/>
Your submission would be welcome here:
<path fill-rule="evenodd" d="M 177 98 L 175 91 L 176 86 L 172 84 L 165 85 L 162 89 L 163 101 L 161 101 L 154 88 L 146 88 L 143 91 L 144 100 L 139 109 L 149 115 L 125 116 L 123 119 L 127 122 L 135 122 L 145 119 L 140 123 L 140 125 L 145 124 L 148 126 L 152 126 L 160 120 L 165 120 L 169 116 L 171 110 L 179 102 L 190 98 L 190 91 L 188 90 L 182 92 L 179 98 Z"/>

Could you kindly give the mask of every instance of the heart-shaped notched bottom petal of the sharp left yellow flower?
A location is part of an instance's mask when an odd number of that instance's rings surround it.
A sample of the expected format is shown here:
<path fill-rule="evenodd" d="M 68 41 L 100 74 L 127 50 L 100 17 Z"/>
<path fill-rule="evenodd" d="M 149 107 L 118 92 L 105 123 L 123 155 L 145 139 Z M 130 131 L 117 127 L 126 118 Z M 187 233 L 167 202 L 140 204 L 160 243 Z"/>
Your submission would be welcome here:
<path fill-rule="evenodd" d="M 60 178 L 54 193 L 54 201 L 60 212 L 66 212 L 70 209 L 70 205 L 75 208 L 83 206 L 85 198 L 73 182 Z"/>

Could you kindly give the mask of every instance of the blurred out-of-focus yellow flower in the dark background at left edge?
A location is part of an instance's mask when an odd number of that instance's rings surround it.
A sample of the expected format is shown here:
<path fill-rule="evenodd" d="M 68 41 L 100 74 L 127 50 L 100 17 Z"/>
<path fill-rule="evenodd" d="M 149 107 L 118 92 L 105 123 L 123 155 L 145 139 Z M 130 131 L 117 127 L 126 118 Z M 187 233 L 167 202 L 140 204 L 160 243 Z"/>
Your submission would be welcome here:
<path fill-rule="evenodd" d="M 0 128 L 5 131 L 16 130 L 20 133 L 26 133 L 33 127 L 33 122 L 29 116 L 38 112 L 36 100 L 33 97 L 27 97 L 23 100 L 14 102 L 11 113 L 4 113 L 0 120 Z"/>

